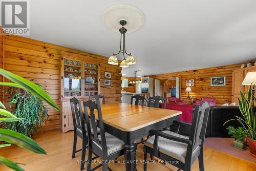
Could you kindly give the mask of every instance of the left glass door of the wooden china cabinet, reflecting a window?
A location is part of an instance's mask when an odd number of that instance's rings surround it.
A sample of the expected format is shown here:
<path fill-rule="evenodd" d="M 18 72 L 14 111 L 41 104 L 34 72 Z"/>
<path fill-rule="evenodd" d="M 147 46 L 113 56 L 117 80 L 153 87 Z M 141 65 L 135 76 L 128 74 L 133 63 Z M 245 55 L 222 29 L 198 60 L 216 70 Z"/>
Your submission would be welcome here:
<path fill-rule="evenodd" d="M 81 61 L 64 60 L 64 96 L 81 96 Z"/>

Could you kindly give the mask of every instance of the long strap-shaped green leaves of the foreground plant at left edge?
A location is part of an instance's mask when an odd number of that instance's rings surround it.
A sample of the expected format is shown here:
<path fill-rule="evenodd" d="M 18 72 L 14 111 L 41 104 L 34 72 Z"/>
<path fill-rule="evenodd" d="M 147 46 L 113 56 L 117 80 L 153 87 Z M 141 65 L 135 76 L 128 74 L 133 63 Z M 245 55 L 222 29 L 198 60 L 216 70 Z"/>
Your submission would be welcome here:
<path fill-rule="evenodd" d="M 16 88 L 22 88 L 27 90 L 28 92 L 32 93 L 36 97 L 38 97 L 41 100 L 44 100 L 51 106 L 53 106 L 56 110 L 59 111 L 58 106 L 55 104 L 55 102 L 50 98 L 50 96 L 39 86 L 37 86 L 35 83 L 20 77 L 16 74 L 13 74 L 9 71 L 0 69 L 0 74 L 11 80 L 12 82 L 0 82 L 0 85 L 3 86 L 11 86 Z M 0 124 L 3 122 L 19 122 L 21 120 L 25 120 L 26 118 L 18 118 L 9 111 L 6 110 L 5 105 L 0 102 Z M 46 154 L 45 150 L 42 149 L 34 140 L 31 138 L 21 134 L 17 133 L 12 130 L 8 129 L 0 129 L 0 141 L 8 142 L 9 144 L 0 144 L 0 147 L 6 147 L 10 146 L 11 144 L 16 144 L 19 147 L 28 149 L 29 151 L 32 151 L 37 154 Z M 22 167 L 18 165 L 18 163 L 13 162 L 3 156 L 0 156 L 0 164 L 5 164 L 7 167 L 12 168 L 14 170 L 24 170 Z"/>

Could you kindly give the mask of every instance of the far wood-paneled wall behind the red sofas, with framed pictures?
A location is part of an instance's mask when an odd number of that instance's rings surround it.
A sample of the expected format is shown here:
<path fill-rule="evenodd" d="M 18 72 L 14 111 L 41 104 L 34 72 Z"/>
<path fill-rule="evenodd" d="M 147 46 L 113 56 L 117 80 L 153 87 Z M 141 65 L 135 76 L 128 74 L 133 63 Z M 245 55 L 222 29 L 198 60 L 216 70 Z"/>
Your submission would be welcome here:
<path fill-rule="evenodd" d="M 222 67 L 212 67 L 199 70 L 182 71 L 175 73 L 151 75 L 155 79 L 163 79 L 170 77 L 181 78 L 181 96 L 186 97 L 186 79 L 195 79 L 195 87 L 191 87 L 192 92 L 189 95 L 193 95 L 195 98 L 212 97 L 217 99 L 217 105 L 231 102 L 232 95 L 232 71 L 239 69 L 241 64 L 229 65 Z M 211 87 L 210 77 L 212 76 L 226 76 L 225 87 Z M 154 81 L 155 82 L 155 81 Z M 154 85 L 155 86 L 155 85 Z M 154 88 L 155 91 L 155 88 Z M 155 94 L 155 93 L 154 93 Z"/>

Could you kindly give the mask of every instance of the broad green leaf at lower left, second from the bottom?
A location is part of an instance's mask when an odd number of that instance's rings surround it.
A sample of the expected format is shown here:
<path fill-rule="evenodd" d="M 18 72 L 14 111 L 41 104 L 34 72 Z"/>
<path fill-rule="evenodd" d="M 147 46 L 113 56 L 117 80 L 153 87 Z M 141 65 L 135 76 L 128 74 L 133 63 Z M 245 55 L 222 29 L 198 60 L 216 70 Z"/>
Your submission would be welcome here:
<path fill-rule="evenodd" d="M 45 150 L 42 149 L 34 140 L 12 130 L 0 129 L 0 141 L 16 144 L 19 147 L 26 148 L 34 153 L 46 154 Z"/>

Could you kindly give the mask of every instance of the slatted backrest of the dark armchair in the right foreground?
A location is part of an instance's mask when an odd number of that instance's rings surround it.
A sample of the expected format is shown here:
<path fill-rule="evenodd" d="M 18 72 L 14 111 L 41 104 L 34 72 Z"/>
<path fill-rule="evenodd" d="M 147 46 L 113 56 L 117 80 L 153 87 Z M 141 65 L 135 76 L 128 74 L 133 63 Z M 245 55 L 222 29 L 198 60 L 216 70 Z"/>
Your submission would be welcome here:
<path fill-rule="evenodd" d="M 193 151 L 204 142 L 210 103 L 203 102 L 195 106 L 189 139 L 193 142 Z"/>

